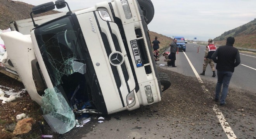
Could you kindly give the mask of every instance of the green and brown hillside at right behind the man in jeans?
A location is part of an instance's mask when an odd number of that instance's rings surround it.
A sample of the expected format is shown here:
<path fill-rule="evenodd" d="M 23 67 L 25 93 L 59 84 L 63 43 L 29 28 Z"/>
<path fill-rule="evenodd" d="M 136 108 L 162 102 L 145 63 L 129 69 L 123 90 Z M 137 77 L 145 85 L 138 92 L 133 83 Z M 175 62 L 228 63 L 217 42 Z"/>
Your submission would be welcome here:
<path fill-rule="evenodd" d="M 251 22 L 241 25 L 235 29 L 224 32 L 221 36 L 213 39 L 214 43 L 218 46 L 226 44 L 226 38 L 235 37 L 236 47 L 256 49 L 256 19 Z"/>

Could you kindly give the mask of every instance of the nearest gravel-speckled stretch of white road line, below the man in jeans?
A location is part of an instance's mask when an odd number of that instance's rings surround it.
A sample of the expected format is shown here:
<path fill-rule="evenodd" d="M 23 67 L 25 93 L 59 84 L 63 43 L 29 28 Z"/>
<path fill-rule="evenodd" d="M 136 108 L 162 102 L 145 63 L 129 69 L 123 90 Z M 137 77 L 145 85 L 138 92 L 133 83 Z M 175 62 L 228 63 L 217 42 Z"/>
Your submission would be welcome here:
<path fill-rule="evenodd" d="M 216 108 L 217 105 L 214 105 L 213 110 L 217 114 L 217 117 L 220 121 L 220 124 L 225 131 L 225 133 L 228 136 L 228 139 L 237 139 L 237 136 L 235 136 L 235 133 L 232 131 L 231 127 L 229 126 L 228 122 L 226 122 L 225 117 L 220 112 L 218 108 Z"/>

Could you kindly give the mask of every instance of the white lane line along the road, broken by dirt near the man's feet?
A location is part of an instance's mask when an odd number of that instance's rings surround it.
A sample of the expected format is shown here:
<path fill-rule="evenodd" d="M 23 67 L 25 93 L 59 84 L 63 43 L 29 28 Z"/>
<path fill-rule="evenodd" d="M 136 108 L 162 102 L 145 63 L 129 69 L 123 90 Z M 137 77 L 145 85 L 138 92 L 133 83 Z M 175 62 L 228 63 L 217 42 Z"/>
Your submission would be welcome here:
<path fill-rule="evenodd" d="M 187 54 L 185 52 L 183 52 L 183 54 L 185 55 L 185 57 L 187 58 L 192 70 L 195 73 L 195 76 L 197 78 L 197 80 L 199 81 L 199 83 L 203 83 L 201 77 L 199 76 L 199 74 L 197 73 L 197 71 L 195 70 L 194 66 L 192 65 L 191 61 L 189 60 Z M 208 90 L 206 90 L 205 86 L 202 85 L 201 86 L 202 89 L 204 90 L 204 93 L 207 93 Z M 208 92 L 209 93 L 209 92 Z M 226 122 L 225 117 L 223 116 L 223 114 L 221 113 L 221 111 L 216 108 L 216 105 L 214 105 L 213 107 L 213 111 L 217 114 L 217 118 L 219 119 L 221 126 L 223 128 L 223 130 L 225 131 L 228 139 L 237 139 L 237 137 L 235 136 L 235 133 L 232 131 L 231 127 L 229 126 L 228 122 Z"/>

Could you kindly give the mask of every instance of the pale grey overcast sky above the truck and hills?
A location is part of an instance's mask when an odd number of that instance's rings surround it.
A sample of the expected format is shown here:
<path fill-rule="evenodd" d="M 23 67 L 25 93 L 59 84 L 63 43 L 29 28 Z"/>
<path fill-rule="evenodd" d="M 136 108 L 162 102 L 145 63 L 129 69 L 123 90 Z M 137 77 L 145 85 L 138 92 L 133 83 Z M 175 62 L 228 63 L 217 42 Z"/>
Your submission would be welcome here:
<path fill-rule="evenodd" d="M 51 0 L 18 0 L 40 5 Z M 71 10 L 111 0 L 66 0 Z M 256 18 L 256 0 L 151 0 L 155 15 L 150 31 L 168 37 L 183 36 L 207 41 Z M 53 1 L 55 2 L 55 1 Z M 66 8 L 67 9 L 67 8 Z M 66 11 L 66 10 L 65 10 Z"/>

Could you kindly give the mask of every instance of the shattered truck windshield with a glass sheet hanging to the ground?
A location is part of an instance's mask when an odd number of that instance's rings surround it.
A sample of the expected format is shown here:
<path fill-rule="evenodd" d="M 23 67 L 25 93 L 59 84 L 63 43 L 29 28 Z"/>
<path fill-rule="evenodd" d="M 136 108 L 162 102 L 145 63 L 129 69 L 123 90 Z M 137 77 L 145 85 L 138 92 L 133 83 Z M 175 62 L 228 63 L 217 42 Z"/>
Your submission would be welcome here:
<path fill-rule="evenodd" d="M 45 120 L 56 132 L 64 134 L 76 124 L 74 109 L 89 101 L 85 85 L 85 55 L 71 16 L 35 29 L 36 41 L 54 88 L 42 98 Z"/>

